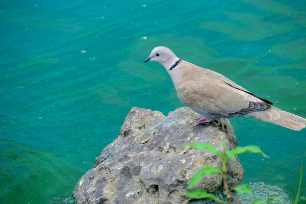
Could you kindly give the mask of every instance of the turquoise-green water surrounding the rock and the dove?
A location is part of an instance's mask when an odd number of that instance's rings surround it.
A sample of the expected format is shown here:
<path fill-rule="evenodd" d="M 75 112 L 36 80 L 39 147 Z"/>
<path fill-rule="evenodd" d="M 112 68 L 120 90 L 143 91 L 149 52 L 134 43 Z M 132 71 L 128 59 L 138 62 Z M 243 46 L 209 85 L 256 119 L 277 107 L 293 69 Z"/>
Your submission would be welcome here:
<path fill-rule="evenodd" d="M 7 0 L 0 10 L 2 203 L 60 203 L 133 106 L 183 106 L 164 68 L 143 63 L 155 46 L 306 117 L 304 1 Z M 231 122 L 240 146 L 271 157 L 242 155 L 244 183 L 294 198 L 304 162 L 306 196 L 306 130 Z"/>

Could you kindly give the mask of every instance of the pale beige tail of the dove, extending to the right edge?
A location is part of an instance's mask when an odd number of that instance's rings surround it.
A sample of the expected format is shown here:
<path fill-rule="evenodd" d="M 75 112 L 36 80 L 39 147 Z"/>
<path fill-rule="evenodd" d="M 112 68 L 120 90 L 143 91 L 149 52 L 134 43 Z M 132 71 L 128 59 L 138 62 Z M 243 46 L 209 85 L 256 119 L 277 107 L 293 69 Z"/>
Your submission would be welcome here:
<path fill-rule="evenodd" d="M 271 122 L 279 126 L 287 127 L 288 129 L 300 131 L 306 125 L 306 119 L 300 116 L 288 113 L 281 109 L 272 107 L 266 111 L 261 112 L 251 112 L 246 114 L 246 116 L 258 118 L 266 122 Z"/>

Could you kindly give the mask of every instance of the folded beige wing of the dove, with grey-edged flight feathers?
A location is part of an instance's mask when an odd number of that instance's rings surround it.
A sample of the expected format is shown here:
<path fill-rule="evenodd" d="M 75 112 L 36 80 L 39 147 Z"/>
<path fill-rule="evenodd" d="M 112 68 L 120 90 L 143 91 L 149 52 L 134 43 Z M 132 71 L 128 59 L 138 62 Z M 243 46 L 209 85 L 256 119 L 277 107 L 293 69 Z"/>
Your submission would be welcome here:
<path fill-rule="evenodd" d="M 216 115 L 239 115 L 271 108 L 265 103 L 250 101 L 248 93 L 219 80 L 201 76 L 188 80 L 177 88 L 177 95 L 188 107 Z"/>

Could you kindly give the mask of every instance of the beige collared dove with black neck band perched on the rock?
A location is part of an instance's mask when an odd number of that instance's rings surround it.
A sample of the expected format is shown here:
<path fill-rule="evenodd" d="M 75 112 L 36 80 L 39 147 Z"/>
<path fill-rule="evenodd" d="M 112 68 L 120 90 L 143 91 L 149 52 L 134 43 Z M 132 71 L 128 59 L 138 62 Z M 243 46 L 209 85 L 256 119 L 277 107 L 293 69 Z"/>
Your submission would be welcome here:
<path fill-rule="evenodd" d="M 216 118 L 251 117 L 299 131 L 306 119 L 273 107 L 222 74 L 184 61 L 167 47 L 155 47 L 144 61 L 161 63 L 172 79 L 177 96 L 188 108 L 198 113 L 196 122 L 211 124 Z"/>

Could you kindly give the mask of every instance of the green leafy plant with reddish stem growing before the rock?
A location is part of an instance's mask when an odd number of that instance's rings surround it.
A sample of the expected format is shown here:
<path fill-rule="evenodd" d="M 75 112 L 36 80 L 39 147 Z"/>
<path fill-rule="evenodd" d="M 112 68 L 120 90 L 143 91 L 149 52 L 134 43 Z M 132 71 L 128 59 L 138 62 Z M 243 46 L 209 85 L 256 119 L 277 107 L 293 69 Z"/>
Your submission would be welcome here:
<path fill-rule="evenodd" d="M 251 196 L 253 196 L 253 192 L 252 192 L 251 188 L 246 184 L 240 184 L 239 186 L 235 186 L 235 187 L 232 187 L 232 188 L 230 188 L 227 185 L 227 179 L 226 179 L 227 162 L 230 161 L 231 159 L 235 161 L 236 160 L 236 155 L 239 155 L 239 154 L 242 154 L 242 153 L 245 153 L 245 152 L 258 153 L 258 154 L 261 154 L 264 157 L 268 157 L 268 156 L 265 155 L 264 152 L 262 152 L 262 150 L 258 146 L 250 145 L 250 146 L 245 146 L 245 147 L 236 147 L 233 150 L 226 151 L 226 147 L 225 147 L 224 142 L 222 142 L 222 144 L 223 144 L 223 152 L 216 149 L 211 144 L 190 143 L 190 144 L 184 145 L 184 146 L 194 147 L 194 148 L 202 150 L 202 151 L 212 152 L 213 154 L 218 155 L 222 159 L 222 168 L 209 167 L 208 166 L 208 167 L 203 167 L 198 172 L 196 172 L 193 175 L 193 177 L 191 178 L 191 181 L 188 185 L 188 189 L 190 189 L 194 185 L 196 185 L 197 182 L 199 182 L 203 177 L 206 177 L 206 176 L 211 175 L 211 174 L 222 173 L 223 186 L 224 186 L 224 189 L 225 189 L 225 192 L 226 192 L 226 200 L 227 200 L 228 204 L 231 204 L 231 202 L 232 202 L 231 192 L 232 191 L 235 191 L 237 193 L 248 193 Z M 218 201 L 222 204 L 226 203 L 223 200 L 220 200 L 219 198 L 217 198 L 215 195 L 207 193 L 204 190 L 192 190 L 192 191 L 189 191 L 187 193 L 187 195 L 192 197 L 192 198 L 197 198 L 197 199 L 210 198 L 210 199 Z M 297 195 L 297 197 L 298 197 L 298 195 Z M 274 201 L 274 200 L 277 200 L 277 199 L 278 199 L 278 197 L 272 197 L 272 198 L 268 198 L 268 199 L 265 199 L 265 200 L 255 200 L 255 201 L 252 202 L 252 204 L 264 204 L 264 203 Z"/>

